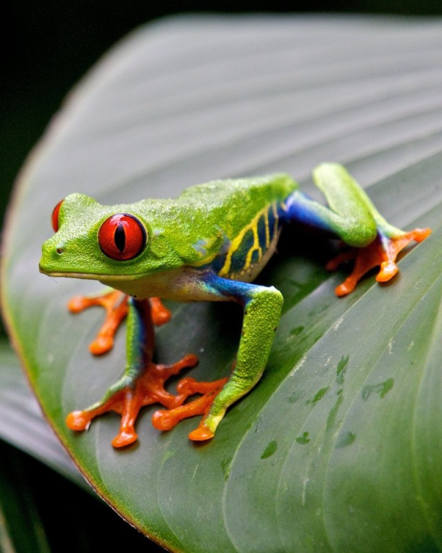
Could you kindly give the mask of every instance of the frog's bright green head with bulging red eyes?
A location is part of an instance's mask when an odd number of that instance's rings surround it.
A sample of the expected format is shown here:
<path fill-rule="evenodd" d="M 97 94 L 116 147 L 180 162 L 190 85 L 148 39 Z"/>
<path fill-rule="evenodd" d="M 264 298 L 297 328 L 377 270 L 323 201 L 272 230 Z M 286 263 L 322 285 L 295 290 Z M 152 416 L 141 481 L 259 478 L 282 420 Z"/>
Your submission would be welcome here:
<path fill-rule="evenodd" d="M 108 281 L 149 271 L 151 229 L 137 204 L 105 206 L 71 194 L 52 212 L 54 236 L 42 248 L 41 272 L 52 277 Z"/>

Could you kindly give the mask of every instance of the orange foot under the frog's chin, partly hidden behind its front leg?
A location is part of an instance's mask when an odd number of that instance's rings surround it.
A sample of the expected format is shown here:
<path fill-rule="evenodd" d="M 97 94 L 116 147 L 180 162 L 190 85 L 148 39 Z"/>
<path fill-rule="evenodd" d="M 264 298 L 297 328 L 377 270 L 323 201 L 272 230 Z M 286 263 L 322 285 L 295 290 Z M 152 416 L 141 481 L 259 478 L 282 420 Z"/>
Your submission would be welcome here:
<path fill-rule="evenodd" d="M 90 353 L 102 355 L 113 348 L 115 332 L 127 315 L 128 296 L 118 290 L 97 296 L 75 296 L 68 303 L 71 313 L 79 313 L 93 306 L 99 306 L 106 311 L 106 318 L 97 336 L 89 346 Z M 171 312 L 166 309 L 159 298 L 151 298 L 153 324 L 160 326 L 171 320 Z"/>

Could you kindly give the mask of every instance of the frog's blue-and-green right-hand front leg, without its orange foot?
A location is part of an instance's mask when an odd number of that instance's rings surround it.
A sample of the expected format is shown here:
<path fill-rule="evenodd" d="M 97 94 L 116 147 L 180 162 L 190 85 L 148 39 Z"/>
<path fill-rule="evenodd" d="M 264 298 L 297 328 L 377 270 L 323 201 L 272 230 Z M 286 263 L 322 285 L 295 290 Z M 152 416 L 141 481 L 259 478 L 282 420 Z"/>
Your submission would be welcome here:
<path fill-rule="evenodd" d="M 269 357 L 282 308 L 276 288 L 222 279 L 211 275 L 206 287 L 218 301 L 238 301 L 244 320 L 236 365 L 227 384 L 215 397 L 204 425 L 215 431 L 227 408 L 258 382 Z"/>

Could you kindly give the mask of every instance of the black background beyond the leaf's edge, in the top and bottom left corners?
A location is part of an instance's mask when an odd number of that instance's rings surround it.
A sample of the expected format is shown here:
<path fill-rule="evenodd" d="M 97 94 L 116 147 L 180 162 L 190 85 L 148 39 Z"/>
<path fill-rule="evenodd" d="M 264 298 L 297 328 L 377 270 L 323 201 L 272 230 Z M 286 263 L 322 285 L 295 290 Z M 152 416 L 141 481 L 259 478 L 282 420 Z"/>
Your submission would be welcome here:
<path fill-rule="evenodd" d="M 133 28 L 184 12 L 357 12 L 440 16 L 442 2 L 2 0 L 0 217 L 23 160 L 75 82 L 115 41 Z M 2 442 L 0 455 L 3 465 L 6 462 L 10 470 L 19 470 L 21 477 L 26 476 L 31 483 L 33 500 L 53 551 L 87 552 L 118 550 L 119 547 L 141 551 L 146 548 L 146 539 L 111 509 L 100 505 L 61 476 Z M 77 505 L 81 505 L 80 512 Z M 154 550 L 160 551 L 160 548 L 151 545 L 151 551 Z"/>

